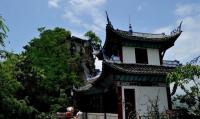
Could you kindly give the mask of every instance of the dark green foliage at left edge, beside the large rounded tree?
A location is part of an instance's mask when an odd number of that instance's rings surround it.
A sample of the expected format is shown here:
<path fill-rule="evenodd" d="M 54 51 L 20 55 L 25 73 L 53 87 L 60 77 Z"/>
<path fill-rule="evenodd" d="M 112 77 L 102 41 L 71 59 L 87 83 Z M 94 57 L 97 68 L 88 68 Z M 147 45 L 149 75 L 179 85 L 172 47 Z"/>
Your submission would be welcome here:
<path fill-rule="evenodd" d="M 26 100 L 18 99 L 16 93 L 23 86 L 14 77 L 14 67 L 18 56 L 9 54 L 3 62 L 0 62 L 0 118 L 34 118 L 36 110 L 27 105 Z"/>

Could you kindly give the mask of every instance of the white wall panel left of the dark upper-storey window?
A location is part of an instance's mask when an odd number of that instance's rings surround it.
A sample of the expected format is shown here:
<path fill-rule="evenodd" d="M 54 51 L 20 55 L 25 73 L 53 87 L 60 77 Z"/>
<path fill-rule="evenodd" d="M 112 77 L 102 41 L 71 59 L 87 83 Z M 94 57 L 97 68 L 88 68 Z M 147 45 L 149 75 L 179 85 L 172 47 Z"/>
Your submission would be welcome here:
<path fill-rule="evenodd" d="M 134 47 L 123 46 L 122 54 L 123 54 L 123 63 L 136 63 Z"/>

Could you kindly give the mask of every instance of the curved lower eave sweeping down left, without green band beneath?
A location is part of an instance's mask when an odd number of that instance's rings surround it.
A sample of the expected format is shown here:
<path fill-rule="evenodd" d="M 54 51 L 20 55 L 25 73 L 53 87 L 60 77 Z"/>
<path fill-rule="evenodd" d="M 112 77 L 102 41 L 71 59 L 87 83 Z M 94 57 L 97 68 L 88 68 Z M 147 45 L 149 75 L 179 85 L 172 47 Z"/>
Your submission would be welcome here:
<path fill-rule="evenodd" d="M 118 64 L 111 63 L 107 61 L 103 61 L 103 69 L 102 73 L 99 77 L 93 78 L 92 80 L 87 81 L 87 83 L 79 87 L 78 89 L 74 89 L 76 93 L 92 93 L 91 91 L 102 92 L 103 88 L 99 88 L 97 86 L 102 79 L 105 78 L 109 73 L 116 73 L 118 76 L 150 76 L 150 77 L 160 77 L 166 76 L 167 73 L 171 72 L 174 67 L 166 67 L 166 66 L 156 66 L 156 65 L 145 65 L 145 64 Z M 123 67 L 122 65 L 126 65 L 128 67 Z M 132 67 L 132 68 L 130 68 Z M 110 72 L 111 71 L 111 72 Z M 135 79 L 134 79 L 135 80 Z M 154 80 L 155 81 L 155 80 Z M 89 91 L 89 92 L 88 92 Z"/>

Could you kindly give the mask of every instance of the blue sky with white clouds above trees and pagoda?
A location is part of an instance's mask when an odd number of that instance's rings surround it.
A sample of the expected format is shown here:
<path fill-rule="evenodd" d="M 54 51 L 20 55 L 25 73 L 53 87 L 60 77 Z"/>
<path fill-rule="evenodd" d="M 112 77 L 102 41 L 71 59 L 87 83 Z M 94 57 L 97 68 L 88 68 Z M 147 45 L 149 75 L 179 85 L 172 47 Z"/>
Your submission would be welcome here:
<path fill-rule="evenodd" d="M 200 55 L 200 0 L 1 0 L 0 15 L 10 29 L 5 49 L 20 53 L 39 27 L 63 27 L 81 38 L 92 30 L 104 42 L 105 11 L 114 28 L 128 30 L 130 18 L 135 32 L 170 34 L 183 21 L 164 59 L 186 63 Z"/>

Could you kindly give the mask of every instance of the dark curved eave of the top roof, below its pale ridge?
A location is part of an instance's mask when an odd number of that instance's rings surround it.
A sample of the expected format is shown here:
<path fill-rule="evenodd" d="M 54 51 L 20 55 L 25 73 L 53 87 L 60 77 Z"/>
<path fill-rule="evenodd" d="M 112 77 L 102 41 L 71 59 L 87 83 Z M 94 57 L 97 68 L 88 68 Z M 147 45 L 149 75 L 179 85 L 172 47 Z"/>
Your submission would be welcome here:
<path fill-rule="evenodd" d="M 173 33 L 172 35 L 163 35 L 162 37 L 159 36 L 158 38 L 156 38 L 155 36 L 153 38 L 149 38 L 149 37 L 141 37 L 141 36 L 134 36 L 134 35 L 130 35 L 128 33 L 122 33 L 120 32 L 120 30 L 115 30 L 113 27 L 107 26 L 106 27 L 106 40 L 105 40 L 105 44 L 103 46 L 103 48 L 106 48 L 108 44 L 110 44 L 109 42 L 112 43 L 112 41 L 110 40 L 110 36 L 109 35 L 114 35 L 116 37 L 118 37 L 119 42 L 128 42 L 135 44 L 135 43 L 143 43 L 143 44 L 160 44 L 161 45 L 161 49 L 166 50 L 170 47 L 172 47 L 174 45 L 174 42 L 177 40 L 177 38 L 181 35 L 182 31 L 177 31 L 176 33 Z M 141 33 L 142 34 L 142 33 Z M 156 34 L 153 34 L 156 35 Z M 160 35 L 160 34 L 158 34 Z M 108 46 L 109 47 L 109 46 Z"/>

